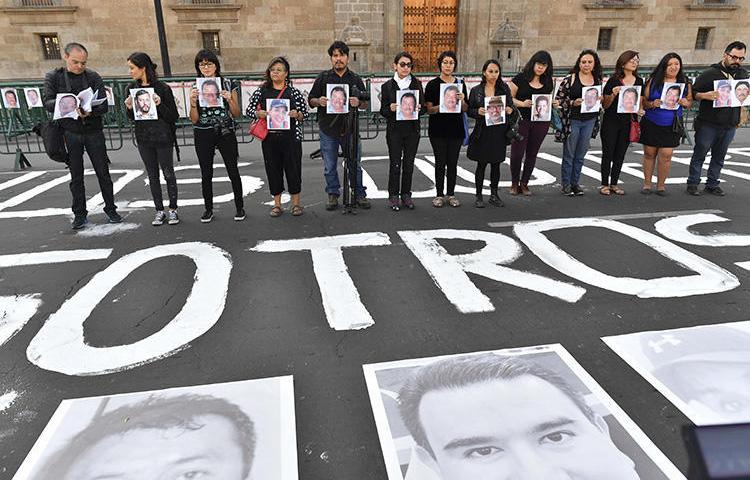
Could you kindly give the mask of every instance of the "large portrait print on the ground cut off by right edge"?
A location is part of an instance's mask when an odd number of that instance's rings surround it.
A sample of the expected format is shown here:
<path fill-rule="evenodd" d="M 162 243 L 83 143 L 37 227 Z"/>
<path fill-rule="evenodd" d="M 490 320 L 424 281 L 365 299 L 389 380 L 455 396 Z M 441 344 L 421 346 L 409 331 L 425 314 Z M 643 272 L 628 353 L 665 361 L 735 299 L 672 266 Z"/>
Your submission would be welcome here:
<path fill-rule="evenodd" d="M 602 340 L 696 425 L 750 423 L 750 322 Z"/>

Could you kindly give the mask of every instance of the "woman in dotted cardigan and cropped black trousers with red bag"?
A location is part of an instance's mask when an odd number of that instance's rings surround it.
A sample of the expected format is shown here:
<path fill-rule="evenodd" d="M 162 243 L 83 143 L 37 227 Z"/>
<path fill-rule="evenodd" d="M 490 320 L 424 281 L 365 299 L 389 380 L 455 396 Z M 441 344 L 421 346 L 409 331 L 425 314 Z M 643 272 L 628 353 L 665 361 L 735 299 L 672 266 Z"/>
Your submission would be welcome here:
<path fill-rule="evenodd" d="M 289 100 L 289 129 L 269 130 L 263 140 L 263 162 L 266 166 L 268 187 L 273 195 L 273 207 L 270 215 L 278 217 L 284 209 L 281 207 L 281 193 L 284 191 L 284 176 L 292 196 L 292 215 L 298 217 L 303 213 L 300 203 L 302 191 L 302 122 L 307 118 L 307 102 L 299 90 L 289 81 L 289 62 L 284 57 L 275 57 L 266 68 L 265 81 L 250 97 L 245 115 L 252 120 L 268 118 L 266 103 L 273 104 L 278 100 Z"/>

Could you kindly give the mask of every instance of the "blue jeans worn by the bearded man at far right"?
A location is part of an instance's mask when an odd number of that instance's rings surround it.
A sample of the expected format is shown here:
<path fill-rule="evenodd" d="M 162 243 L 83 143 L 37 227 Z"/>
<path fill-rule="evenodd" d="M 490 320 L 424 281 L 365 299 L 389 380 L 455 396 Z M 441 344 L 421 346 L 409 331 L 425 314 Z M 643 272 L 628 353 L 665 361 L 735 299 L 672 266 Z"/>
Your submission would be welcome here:
<path fill-rule="evenodd" d="M 736 128 L 721 128 L 708 123 L 698 123 L 695 131 L 695 146 L 693 156 L 690 158 L 690 174 L 688 185 L 701 183 L 701 168 L 706 159 L 706 154 L 711 150 L 711 162 L 708 164 L 708 177 L 706 186 L 719 186 L 719 175 L 721 167 L 724 166 L 724 157 L 727 156 L 729 144 L 734 139 Z"/>

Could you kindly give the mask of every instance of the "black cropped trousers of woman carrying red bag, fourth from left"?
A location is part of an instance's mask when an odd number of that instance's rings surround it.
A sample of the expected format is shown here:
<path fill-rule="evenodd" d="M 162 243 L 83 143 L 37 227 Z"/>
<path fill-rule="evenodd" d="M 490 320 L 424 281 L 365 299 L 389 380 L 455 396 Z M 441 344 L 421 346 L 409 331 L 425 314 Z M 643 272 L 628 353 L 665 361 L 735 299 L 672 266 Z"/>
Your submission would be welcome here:
<path fill-rule="evenodd" d="M 289 193 L 298 194 L 302 190 L 302 142 L 296 140 L 293 133 L 269 132 L 261 146 L 271 195 L 284 191 L 285 174 Z"/>

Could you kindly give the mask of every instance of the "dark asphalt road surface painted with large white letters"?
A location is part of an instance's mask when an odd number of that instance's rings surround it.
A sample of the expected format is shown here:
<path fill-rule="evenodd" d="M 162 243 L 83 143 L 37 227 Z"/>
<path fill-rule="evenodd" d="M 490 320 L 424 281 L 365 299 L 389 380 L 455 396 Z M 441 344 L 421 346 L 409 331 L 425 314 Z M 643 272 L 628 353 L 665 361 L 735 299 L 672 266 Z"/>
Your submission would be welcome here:
<path fill-rule="evenodd" d="M 182 221 L 155 228 L 150 224 L 153 208 L 144 182 L 147 177 L 137 151 L 128 144 L 111 153 L 113 178 L 120 186 L 115 197 L 124 223 L 106 226 L 104 214 L 93 210 L 89 226 L 78 232 L 70 229 L 66 171 L 32 155 L 31 170 L 13 172 L 12 157 L 3 157 L 0 296 L 6 298 L 6 306 L 13 298 L 31 299 L 36 310 L 18 333 L 0 344 L 0 395 L 6 400 L 12 396 L 12 401 L 0 403 L 0 478 L 12 478 L 61 400 L 293 375 L 299 478 L 381 480 L 386 470 L 362 365 L 558 343 L 680 470 L 687 471 L 680 428 L 688 419 L 601 337 L 748 320 L 750 272 L 737 262 L 750 260 L 750 248 L 670 240 L 657 233 L 655 224 L 706 213 L 729 221 L 695 225 L 692 233 L 750 235 L 750 131 L 739 132 L 732 145 L 728 160 L 735 163 L 725 167 L 733 174 L 725 172 L 722 177 L 727 192 L 723 198 L 684 193 L 687 145 L 675 154 L 671 171 L 675 183 L 668 185 L 668 196 L 639 194 L 642 152 L 637 145 L 629 150 L 628 168 L 622 174 L 627 194 L 599 195 L 598 141 L 585 164 L 581 182 L 585 195 L 564 197 L 558 181 L 562 147 L 548 137 L 532 182 L 533 195 L 507 193 L 506 162 L 501 174 L 505 206 L 484 209 L 473 207 L 469 192 L 474 188 L 474 163 L 464 152 L 459 162 L 465 169 L 459 178 L 463 188 L 458 193 L 463 205 L 431 206 L 434 185 L 431 175 L 425 175 L 432 169 L 431 149 L 423 140 L 414 173 L 416 209 L 400 212 L 385 207 L 388 161 L 381 136 L 364 146 L 373 208 L 356 215 L 325 210 L 322 161 L 308 156 L 315 144 L 304 147 L 303 216 L 292 217 L 288 211 L 279 218 L 268 215 L 270 196 L 260 148 L 250 144 L 240 150 L 240 172 L 249 191 L 247 219 L 232 220 L 230 199 L 216 204 L 212 223 L 201 224 L 197 161 L 191 148 L 183 148 L 178 171 Z M 231 192 L 229 183 L 218 178 L 222 172 L 217 156 L 216 195 Z M 86 186 L 89 198 L 98 193 L 93 175 L 87 177 Z M 590 217 L 660 236 L 683 253 L 667 258 L 637 235 L 587 223 Z M 627 286 L 599 282 L 581 264 L 551 265 L 535 253 L 543 247 L 520 239 L 514 226 L 553 219 L 573 220 L 545 236 L 594 271 L 611 277 L 677 278 L 663 286 L 661 298 L 654 292 L 617 291 Z M 435 235 L 451 256 L 474 252 L 485 245 L 486 234 L 500 234 L 521 249 L 517 258 L 510 255 L 507 268 L 536 276 L 523 283 L 503 270 L 498 274 L 502 281 L 476 273 L 441 277 L 442 282 L 433 279 L 417 256 L 420 247 L 405 239 L 413 238 L 408 232 L 438 229 L 451 230 Z M 330 245 L 342 239 L 364 245 L 329 249 L 320 254 L 314 270 L 309 245 L 276 243 L 317 237 L 331 237 L 320 242 Z M 35 340 L 45 321 L 98 272 L 134 252 L 164 246 L 150 261 L 132 264 L 132 272 L 125 272 L 122 281 L 112 280 L 109 290 L 89 290 L 85 299 L 79 296 L 65 313 L 78 325 L 83 322 L 90 347 L 128 345 L 159 332 L 183 308 L 194 277 L 205 274 L 184 255 L 168 256 L 170 245 L 195 251 L 214 246 L 231 259 L 225 305 L 205 333 L 185 342 L 175 340 L 173 347 L 179 348 L 164 347 L 162 355 L 134 350 L 119 360 L 105 359 L 106 354 L 97 357 L 95 350 L 87 360 L 78 358 L 77 350 L 53 354 L 47 350 L 49 343 Z M 49 263 L 21 265 L 19 257 L 8 257 L 70 250 L 83 250 L 94 258 L 72 261 L 70 256 L 59 256 L 48 259 Z M 685 251 L 731 272 L 739 284 L 714 293 L 685 293 L 692 280 L 680 277 L 694 275 L 681 260 Z M 85 252 L 76 255 L 85 257 Z M 334 257 L 343 258 L 344 269 L 331 260 Z M 463 288 L 465 278 L 474 290 Z M 566 293 L 563 287 L 571 285 L 578 287 L 579 295 Z M 211 298 L 223 294 L 221 281 L 214 287 Z M 89 314 L 80 304 L 92 296 L 99 301 L 94 298 Z"/>

